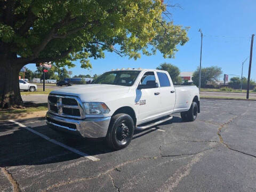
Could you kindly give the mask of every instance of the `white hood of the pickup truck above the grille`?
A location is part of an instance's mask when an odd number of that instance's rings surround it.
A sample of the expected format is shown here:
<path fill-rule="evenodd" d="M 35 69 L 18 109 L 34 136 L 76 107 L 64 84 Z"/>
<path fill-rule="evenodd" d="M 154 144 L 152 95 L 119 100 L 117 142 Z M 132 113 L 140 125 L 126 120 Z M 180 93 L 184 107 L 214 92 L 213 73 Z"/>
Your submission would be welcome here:
<path fill-rule="evenodd" d="M 129 90 L 129 86 L 87 84 L 68 86 L 59 90 L 54 90 L 50 94 L 73 95 L 79 97 L 82 102 L 106 102 L 113 100 L 114 98 L 117 99 L 118 95 L 123 97 Z"/>

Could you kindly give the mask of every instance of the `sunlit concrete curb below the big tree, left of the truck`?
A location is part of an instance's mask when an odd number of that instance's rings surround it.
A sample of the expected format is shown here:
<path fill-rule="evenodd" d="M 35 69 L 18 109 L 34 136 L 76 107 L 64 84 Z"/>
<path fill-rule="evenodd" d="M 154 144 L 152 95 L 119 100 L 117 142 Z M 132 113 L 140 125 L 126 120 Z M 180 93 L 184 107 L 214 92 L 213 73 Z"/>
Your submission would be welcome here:
<path fill-rule="evenodd" d="M 17 113 L 17 114 L 8 114 L 1 115 L 0 120 L 8 120 L 8 119 L 26 119 L 26 118 L 34 118 L 34 117 L 44 117 L 46 115 L 47 110 L 43 111 L 35 111 L 30 113 Z"/>

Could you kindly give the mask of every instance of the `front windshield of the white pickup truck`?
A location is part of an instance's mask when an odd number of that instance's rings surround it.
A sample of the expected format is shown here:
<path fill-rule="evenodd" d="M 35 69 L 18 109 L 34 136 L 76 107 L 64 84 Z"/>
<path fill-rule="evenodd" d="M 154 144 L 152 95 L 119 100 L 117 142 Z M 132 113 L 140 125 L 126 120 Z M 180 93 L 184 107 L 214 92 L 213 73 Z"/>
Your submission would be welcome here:
<path fill-rule="evenodd" d="M 139 73 L 139 70 L 110 71 L 99 76 L 92 84 L 132 86 Z"/>

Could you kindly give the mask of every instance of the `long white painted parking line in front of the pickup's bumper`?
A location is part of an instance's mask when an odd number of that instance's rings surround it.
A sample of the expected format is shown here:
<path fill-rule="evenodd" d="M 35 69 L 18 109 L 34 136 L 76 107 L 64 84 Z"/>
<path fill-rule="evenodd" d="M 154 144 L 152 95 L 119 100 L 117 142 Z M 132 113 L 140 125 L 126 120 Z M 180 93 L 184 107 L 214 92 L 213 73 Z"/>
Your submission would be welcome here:
<path fill-rule="evenodd" d="M 12 123 L 15 123 L 15 124 L 17 124 L 17 125 L 19 125 L 19 126 L 21 126 L 21 127 L 23 127 L 24 129 L 26 129 L 26 130 L 28 130 L 28 131 L 30 131 L 30 132 L 32 132 L 32 133 L 37 134 L 38 136 L 40 136 L 40 137 L 46 139 L 47 141 L 50 141 L 50 142 L 52 142 L 52 143 L 54 143 L 54 144 L 56 144 L 56 145 L 59 145 L 59 146 L 65 148 L 65 149 L 68 149 L 68 150 L 72 151 L 73 153 L 76 153 L 76 154 L 78 154 L 78 155 L 81 155 L 82 157 L 86 157 L 86 158 L 88 158 L 88 159 L 90 159 L 90 160 L 92 160 L 92 161 L 100 161 L 99 158 L 96 158 L 96 157 L 94 157 L 94 156 L 85 154 L 85 153 L 83 153 L 83 152 L 81 152 L 81 151 L 79 151 L 79 150 L 77 150 L 77 149 L 75 149 L 75 148 L 73 148 L 73 147 L 69 147 L 69 146 L 67 146 L 67 145 L 65 145 L 65 144 L 63 144 L 63 143 L 61 143 L 61 142 L 59 142 L 59 141 L 56 141 L 56 140 L 54 140 L 54 139 L 51 139 L 51 138 L 47 137 L 46 135 L 44 135 L 44 134 L 42 134 L 42 133 L 39 133 L 39 132 L 37 132 L 37 131 L 35 131 L 35 130 L 29 128 L 29 127 L 27 127 L 26 125 L 23 125 L 23 124 L 21 124 L 21 123 L 15 122 L 14 120 L 9 120 L 9 121 L 12 122 Z"/>

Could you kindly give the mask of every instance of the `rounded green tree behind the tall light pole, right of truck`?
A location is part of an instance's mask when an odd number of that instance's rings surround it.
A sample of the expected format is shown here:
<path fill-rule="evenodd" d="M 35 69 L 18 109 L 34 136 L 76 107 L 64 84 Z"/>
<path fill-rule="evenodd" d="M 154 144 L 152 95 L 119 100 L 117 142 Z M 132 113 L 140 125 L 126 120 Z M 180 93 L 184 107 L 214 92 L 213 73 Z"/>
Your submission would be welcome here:
<path fill-rule="evenodd" d="M 201 70 L 201 87 L 205 87 L 207 83 L 215 83 L 218 81 L 218 78 L 222 74 L 222 70 L 220 67 L 212 66 L 202 68 Z M 193 73 L 192 77 L 193 83 L 198 86 L 199 85 L 199 67 Z"/>

